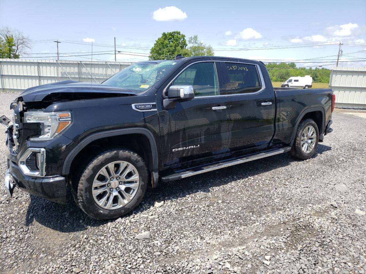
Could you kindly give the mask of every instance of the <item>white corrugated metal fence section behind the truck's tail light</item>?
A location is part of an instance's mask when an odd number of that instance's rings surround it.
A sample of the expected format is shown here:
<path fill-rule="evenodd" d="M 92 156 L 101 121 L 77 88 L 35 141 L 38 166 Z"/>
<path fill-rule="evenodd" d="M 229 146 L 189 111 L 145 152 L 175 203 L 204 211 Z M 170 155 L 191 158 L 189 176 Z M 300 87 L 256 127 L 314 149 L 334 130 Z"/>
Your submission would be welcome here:
<path fill-rule="evenodd" d="M 336 95 L 336 107 L 366 109 L 366 68 L 339 66 L 332 69 L 329 87 Z"/>

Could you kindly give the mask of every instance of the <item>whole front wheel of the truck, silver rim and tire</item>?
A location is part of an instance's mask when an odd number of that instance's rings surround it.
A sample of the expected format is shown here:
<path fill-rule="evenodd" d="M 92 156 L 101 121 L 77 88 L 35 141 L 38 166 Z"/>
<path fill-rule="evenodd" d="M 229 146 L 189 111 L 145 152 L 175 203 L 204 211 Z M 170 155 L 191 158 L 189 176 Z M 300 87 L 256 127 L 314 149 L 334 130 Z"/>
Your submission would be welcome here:
<path fill-rule="evenodd" d="M 148 175 L 143 159 L 135 152 L 111 148 L 84 167 L 75 178 L 74 197 L 90 217 L 98 220 L 122 217 L 141 202 Z"/>

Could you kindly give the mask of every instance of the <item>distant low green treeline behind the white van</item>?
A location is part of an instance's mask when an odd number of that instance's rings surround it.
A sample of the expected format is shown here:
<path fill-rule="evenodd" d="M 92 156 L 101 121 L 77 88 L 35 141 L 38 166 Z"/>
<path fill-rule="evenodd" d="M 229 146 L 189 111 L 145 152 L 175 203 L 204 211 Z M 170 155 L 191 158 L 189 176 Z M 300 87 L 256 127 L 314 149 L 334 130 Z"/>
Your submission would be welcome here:
<path fill-rule="evenodd" d="M 266 64 L 272 82 L 283 82 L 290 77 L 310 75 L 314 83 L 329 83 L 330 69 L 296 68 L 295 63 Z"/>

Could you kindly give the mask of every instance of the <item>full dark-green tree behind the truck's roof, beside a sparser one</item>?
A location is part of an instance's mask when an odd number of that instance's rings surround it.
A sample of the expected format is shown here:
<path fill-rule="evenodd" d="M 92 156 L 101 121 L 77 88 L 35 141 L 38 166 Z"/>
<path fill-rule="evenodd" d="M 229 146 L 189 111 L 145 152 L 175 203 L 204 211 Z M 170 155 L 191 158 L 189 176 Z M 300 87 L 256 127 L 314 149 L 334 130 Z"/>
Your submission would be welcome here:
<path fill-rule="evenodd" d="M 150 50 L 150 60 L 173 59 L 177 54 L 191 56 L 187 49 L 186 35 L 180 31 L 171 31 L 161 34 Z"/>

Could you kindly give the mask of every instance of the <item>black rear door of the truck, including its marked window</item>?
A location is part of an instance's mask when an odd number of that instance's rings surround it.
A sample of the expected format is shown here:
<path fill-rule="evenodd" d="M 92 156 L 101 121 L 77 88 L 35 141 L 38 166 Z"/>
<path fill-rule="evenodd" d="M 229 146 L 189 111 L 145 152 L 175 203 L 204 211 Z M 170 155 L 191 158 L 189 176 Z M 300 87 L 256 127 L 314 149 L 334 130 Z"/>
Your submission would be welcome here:
<path fill-rule="evenodd" d="M 231 150 L 261 149 L 274 133 L 275 95 L 266 87 L 259 65 L 221 62 L 229 100 Z"/>

